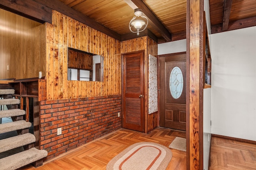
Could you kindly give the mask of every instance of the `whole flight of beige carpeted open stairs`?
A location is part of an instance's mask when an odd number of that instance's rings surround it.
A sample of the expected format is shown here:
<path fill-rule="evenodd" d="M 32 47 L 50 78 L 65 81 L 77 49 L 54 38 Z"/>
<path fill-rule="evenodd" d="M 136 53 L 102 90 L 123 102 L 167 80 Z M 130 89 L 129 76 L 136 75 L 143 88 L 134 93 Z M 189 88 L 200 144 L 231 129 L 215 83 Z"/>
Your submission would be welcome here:
<path fill-rule="evenodd" d="M 0 95 L 14 94 L 13 89 L 0 89 Z M 10 95 L 9 95 L 10 96 Z M 0 105 L 18 105 L 20 104 L 19 99 L 0 99 Z M 21 109 L 8 109 L 0 111 L 0 118 L 4 117 L 17 117 L 25 115 L 26 112 Z M 14 120 L 14 119 L 13 119 Z M 0 134 L 11 131 L 19 131 L 18 136 L 9 137 L 0 140 L 0 153 L 6 152 L 11 149 L 18 147 L 24 147 L 24 151 L 12 154 L 10 156 L 0 159 L 1 170 L 15 170 L 27 164 L 34 163 L 37 161 L 42 162 L 42 158 L 46 157 L 48 152 L 46 150 L 38 150 L 34 148 L 36 137 L 28 133 L 28 128 L 31 127 L 30 122 L 25 120 L 19 120 L 0 124 Z M 27 129 L 27 130 L 26 130 Z M 40 163 L 39 163 L 40 164 Z"/>

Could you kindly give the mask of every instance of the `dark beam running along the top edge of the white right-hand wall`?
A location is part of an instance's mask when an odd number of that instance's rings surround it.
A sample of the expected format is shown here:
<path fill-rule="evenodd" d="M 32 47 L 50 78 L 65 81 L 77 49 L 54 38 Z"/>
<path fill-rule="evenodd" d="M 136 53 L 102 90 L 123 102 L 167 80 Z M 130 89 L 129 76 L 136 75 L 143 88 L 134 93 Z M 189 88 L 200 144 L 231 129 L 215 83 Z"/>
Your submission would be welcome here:
<path fill-rule="evenodd" d="M 236 20 L 229 22 L 228 29 L 226 31 L 231 31 L 235 29 L 247 28 L 247 27 L 254 27 L 256 26 L 256 17 L 245 18 L 242 20 Z M 211 26 L 211 33 L 220 33 L 222 31 L 222 24 L 212 25 Z"/>

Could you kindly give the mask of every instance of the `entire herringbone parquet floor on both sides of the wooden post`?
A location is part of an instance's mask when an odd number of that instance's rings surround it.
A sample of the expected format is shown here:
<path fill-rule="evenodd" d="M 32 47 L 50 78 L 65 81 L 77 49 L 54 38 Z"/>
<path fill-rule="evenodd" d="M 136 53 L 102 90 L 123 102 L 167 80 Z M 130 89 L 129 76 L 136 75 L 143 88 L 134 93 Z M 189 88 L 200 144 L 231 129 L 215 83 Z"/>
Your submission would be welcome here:
<path fill-rule="evenodd" d="M 149 134 L 120 129 L 44 162 L 43 166 L 28 165 L 20 170 L 104 170 L 114 156 L 134 143 L 154 142 L 168 147 L 175 137 L 186 138 L 186 133 L 161 127 Z M 167 170 L 186 170 L 186 152 L 171 150 Z M 256 170 L 256 145 L 212 137 L 210 170 Z"/>

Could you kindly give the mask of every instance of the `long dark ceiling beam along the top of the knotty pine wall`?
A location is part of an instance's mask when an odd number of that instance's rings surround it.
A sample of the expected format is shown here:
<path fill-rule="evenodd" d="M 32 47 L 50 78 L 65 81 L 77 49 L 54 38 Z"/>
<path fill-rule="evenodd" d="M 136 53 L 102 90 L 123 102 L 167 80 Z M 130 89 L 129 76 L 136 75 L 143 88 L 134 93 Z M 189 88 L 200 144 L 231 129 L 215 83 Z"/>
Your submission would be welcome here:
<path fill-rule="evenodd" d="M 79 22 L 82 22 L 89 27 L 92 27 L 102 33 L 105 33 L 106 35 L 109 35 L 110 37 L 113 37 L 114 39 L 117 39 L 121 41 L 121 35 L 116 33 L 115 31 L 105 27 L 104 25 L 101 25 L 100 23 L 96 22 L 95 20 L 92 20 L 88 16 L 85 16 L 84 14 L 74 10 L 73 8 L 63 4 L 62 2 L 58 0 L 33 0 L 40 4 L 43 4 L 44 6 L 48 6 L 49 8 L 52 8 L 53 10 L 56 10 L 70 18 L 73 18 L 74 20 L 77 20 Z"/>

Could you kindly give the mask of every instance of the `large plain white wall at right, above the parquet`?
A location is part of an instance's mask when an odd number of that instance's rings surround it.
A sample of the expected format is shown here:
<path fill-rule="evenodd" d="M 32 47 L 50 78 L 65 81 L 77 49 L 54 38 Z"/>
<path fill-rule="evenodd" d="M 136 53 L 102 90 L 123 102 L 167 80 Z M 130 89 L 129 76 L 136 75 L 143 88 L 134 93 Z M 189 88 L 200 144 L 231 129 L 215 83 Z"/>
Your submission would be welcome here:
<path fill-rule="evenodd" d="M 256 27 L 211 41 L 212 133 L 256 141 Z"/>

